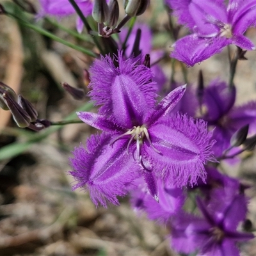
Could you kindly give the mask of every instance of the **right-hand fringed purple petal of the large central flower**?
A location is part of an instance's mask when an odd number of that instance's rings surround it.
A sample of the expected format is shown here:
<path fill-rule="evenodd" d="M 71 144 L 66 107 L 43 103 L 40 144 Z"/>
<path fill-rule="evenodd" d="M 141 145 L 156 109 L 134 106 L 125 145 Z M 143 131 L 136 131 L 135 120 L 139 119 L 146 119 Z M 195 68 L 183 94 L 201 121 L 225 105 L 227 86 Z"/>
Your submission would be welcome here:
<path fill-rule="evenodd" d="M 177 115 L 152 125 L 148 133 L 154 147 L 145 141 L 142 156 L 154 163 L 167 184 L 180 187 L 189 180 L 193 186 L 198 177 L 205 180 L 204 164 L 214 161 L 211 148 L 215 142 L 207 123 Z"/>

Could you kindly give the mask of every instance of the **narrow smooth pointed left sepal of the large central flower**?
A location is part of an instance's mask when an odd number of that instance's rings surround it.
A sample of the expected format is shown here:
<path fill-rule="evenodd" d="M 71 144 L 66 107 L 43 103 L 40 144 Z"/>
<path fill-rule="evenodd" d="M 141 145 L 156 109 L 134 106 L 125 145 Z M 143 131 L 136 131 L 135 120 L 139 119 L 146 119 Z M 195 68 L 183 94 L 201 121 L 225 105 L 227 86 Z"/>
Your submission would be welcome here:
<path fill-rule="evenodd" d="M 106 116 L 101 116 L 92 112 L 77 112 L 77 116 L 86 124 L 106 132 L 124 132 L 122 127 L 116 125 Z"/>

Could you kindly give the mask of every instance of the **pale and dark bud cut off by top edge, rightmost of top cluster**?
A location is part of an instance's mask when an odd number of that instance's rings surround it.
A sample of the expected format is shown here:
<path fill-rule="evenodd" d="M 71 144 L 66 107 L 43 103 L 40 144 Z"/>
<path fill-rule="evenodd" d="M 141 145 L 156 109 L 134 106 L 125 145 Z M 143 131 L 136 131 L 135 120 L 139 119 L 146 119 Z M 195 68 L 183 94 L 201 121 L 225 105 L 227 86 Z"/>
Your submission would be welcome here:
<path fill-rule="evenodd" d="M 139 16 L 145 12 L 149 3 L 150 3 L 150 0 L 137 0 L 137 1 L 125 0 L 124 1 L 125 13 L 127 13 L 127 15 L 131 17 Z"/>

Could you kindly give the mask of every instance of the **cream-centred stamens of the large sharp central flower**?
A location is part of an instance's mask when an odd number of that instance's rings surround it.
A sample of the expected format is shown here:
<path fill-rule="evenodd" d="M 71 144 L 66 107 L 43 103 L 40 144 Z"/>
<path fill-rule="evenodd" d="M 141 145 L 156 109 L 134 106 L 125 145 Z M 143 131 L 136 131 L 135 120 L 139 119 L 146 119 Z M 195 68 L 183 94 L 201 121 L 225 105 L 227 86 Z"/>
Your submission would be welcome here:
<path fill-rule="evenodd" d="M 133 140 L 136 140 L 136 160 L 138 161 L 138 163 L 141 162 L 141 154 L 140 154 L 140 147 L 143 144 L 143 139 L 146 137 L 147 141 L 149 142 L 150 146 L 157 152 L 160 153 L 155 147 L 154 145 L 152 145 L 152 142 L 150 140 L 150 136 L 148 134 L 148 129 L 147 127 L 145 127 L 145 125 L 141 125 L 141 126 L 134 126 L 132 127 L 132 129 L 129 129 L 127 132 L 125 132 L 124 134 L 121 134 L 120 136 L 118 136 L 117 138 L 115 138 L 115 140 L 112 141 L 112 144 L 115 143 L 115 141 L 119 140 L 120 138 L 127 136 L 127 135 L 131 135 L 131 138 L 127 144 L 127 154 L 128 154 L 128 150 L 129 147 L 132 143 Z"/>

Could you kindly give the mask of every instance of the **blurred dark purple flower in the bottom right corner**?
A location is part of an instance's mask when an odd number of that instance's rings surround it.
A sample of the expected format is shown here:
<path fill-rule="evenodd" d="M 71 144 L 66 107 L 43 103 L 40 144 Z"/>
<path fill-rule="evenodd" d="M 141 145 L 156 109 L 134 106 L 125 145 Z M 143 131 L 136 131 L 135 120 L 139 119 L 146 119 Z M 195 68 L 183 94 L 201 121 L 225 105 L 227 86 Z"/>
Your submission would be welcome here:
<path fill-rule="evenodd" d="M 199 250 L 198 255 L 239 256 L 236 243 L 254 237 L 253 234 L 237 231 L 237 225 L 244 220 L 246 214 L 239 208 L 240 205 L 247 204 L 244 196 L 236 195 L 227 198 L 225 193 L 220 193 L 218 197 L 212 198 L 211 203 L 206 206 L 202 200 L 197 198 L 202 218 L 185 212 L 173 218 L 173 248 L 183 253 L 193 253 Z"/>

